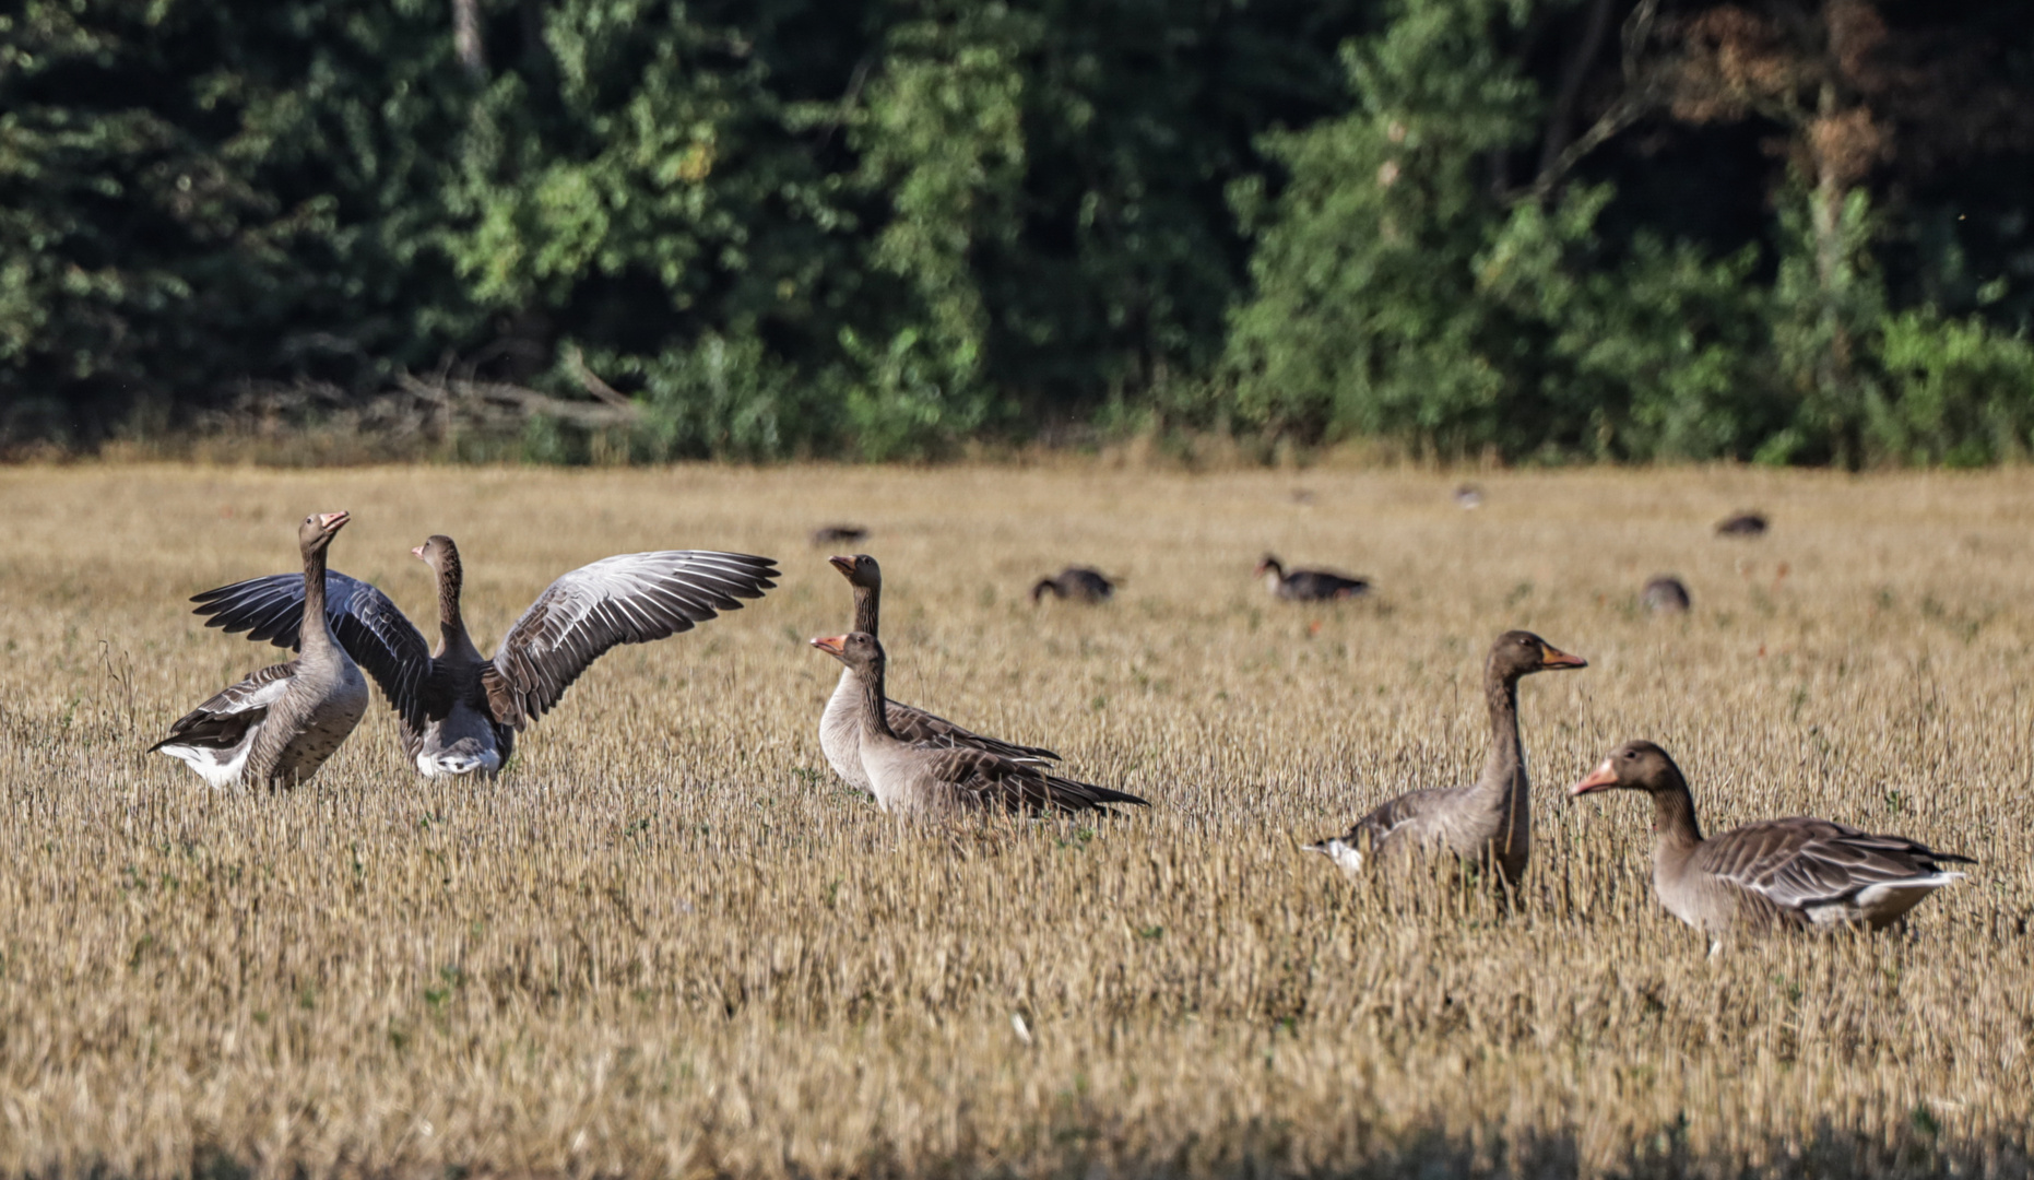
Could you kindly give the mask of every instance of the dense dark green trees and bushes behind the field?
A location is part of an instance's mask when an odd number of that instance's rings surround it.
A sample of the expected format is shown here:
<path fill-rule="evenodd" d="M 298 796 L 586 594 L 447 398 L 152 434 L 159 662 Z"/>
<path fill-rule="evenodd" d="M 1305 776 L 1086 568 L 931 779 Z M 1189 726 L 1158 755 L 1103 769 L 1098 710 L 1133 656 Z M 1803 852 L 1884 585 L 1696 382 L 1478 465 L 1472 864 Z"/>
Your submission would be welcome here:
<path fill-rule="evenodd" d="M 2030 96 L 2008 0 L 24 0 L 0 444 L 1993 462 Z"/>

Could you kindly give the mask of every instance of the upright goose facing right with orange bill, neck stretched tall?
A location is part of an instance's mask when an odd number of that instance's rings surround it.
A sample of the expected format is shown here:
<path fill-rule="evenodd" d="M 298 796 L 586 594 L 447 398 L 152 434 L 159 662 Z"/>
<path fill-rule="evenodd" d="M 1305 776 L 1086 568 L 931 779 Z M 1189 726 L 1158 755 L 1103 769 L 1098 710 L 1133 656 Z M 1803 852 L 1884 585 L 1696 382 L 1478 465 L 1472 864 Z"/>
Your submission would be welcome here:
<path fill-rule="evenodd" d="M 1483 661 L 1483 696 L 1491 708 L 1491 755 L 1467 787 L 1410 791 L 1379 806 L 1332 840 L 1308 844 L 1349 873 L 1367 861 L 1405 857 L 1412 848 L 1446 848 L 1458 859 L 1489 861 L 1507 883 L 1525 873 L 1532 850 L 1532 798 L 1525 747 L 1519 741 L 1519 677 L 1562 667 L 1589 667 L 1532 631 L 1505 631 Z"/>

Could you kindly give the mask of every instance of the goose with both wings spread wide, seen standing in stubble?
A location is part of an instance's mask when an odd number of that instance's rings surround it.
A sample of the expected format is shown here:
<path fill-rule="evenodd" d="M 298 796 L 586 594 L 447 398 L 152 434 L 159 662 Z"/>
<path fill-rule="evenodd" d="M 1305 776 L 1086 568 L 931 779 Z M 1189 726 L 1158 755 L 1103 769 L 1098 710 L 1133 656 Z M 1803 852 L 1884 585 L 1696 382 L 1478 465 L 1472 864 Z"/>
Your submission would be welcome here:
<path fill-rule="evenodd" d="M 403 718 L 403 753 L 419 775 L 494 775 L 515 753 L 515 734 L 551 710 L 565 688 L 620 643 L 665 639 L 738 610 L 775 588 L 769 557 L 665 549 L 602 557 L 537 596 L 480 655 L 460 614 L 464 572 L 452 537 L 411 549 L 437 574 L 437 647 L 374 586 L 325 574 L 325 618 Z M 277 647 L 297 641 L 303 588 L 283 576 L 252 578 L 195 596 L 205 627 L 246 631 Z"/>

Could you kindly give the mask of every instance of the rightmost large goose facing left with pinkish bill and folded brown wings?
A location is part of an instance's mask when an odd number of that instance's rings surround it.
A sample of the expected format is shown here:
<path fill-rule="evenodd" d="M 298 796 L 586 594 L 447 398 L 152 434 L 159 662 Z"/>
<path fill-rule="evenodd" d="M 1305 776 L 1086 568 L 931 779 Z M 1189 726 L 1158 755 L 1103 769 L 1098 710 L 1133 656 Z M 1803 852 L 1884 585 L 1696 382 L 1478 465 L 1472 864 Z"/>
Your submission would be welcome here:
<path fill-rule="evenodd" d="M 1904 836 L 1873 836 L 1804 816 L 1745 824 L 1704 840 L 1688 779 L 1664 749 L 1646 741 L 1611 751 L 1572 793 L 1607 789 L 1652 795 L 1654 893 L 1668 913 L 1711 938 L 1739 926 L 1879 930 L 1963 877 L 1945 865 L 1973 863 Z"/>

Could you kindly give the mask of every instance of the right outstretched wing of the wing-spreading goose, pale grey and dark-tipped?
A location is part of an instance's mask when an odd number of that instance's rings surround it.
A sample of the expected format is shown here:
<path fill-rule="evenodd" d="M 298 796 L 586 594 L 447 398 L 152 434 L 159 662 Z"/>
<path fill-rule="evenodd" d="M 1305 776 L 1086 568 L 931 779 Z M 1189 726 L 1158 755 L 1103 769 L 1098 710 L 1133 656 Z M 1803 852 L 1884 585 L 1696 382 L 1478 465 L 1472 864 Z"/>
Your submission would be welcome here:
<path fill-rule="evenodd" d="M 665 549 L 580 566 L 537 596 L 482 673 L 494 718 L 523 728 L 616 643 L 649 643 L 740 610 L 777 584 L 777 564 L 746 553 Z"/>

